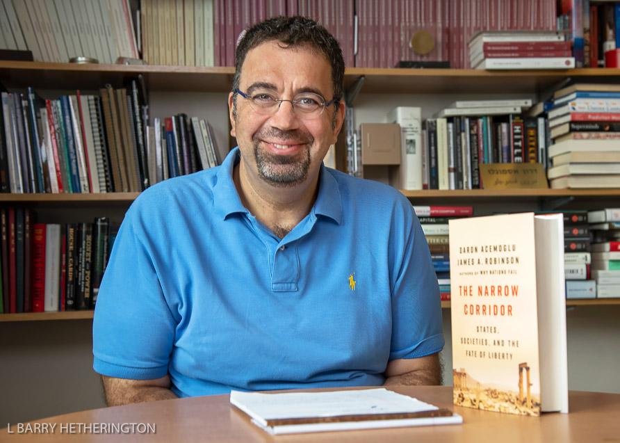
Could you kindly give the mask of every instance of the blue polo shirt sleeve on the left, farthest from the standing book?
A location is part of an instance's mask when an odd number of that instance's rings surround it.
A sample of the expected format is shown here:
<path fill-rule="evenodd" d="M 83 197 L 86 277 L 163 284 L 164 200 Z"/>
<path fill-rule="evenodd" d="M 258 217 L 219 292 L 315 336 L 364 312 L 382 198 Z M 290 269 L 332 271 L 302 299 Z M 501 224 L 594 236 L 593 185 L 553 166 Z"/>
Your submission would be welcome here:
<path fill-rule="evenodd" d="M 93 369 L 104 376 L 152 380 L 168 373 L 177 323 L 133 212 L 130 208 L 120 227 L 97 296 Z"/>

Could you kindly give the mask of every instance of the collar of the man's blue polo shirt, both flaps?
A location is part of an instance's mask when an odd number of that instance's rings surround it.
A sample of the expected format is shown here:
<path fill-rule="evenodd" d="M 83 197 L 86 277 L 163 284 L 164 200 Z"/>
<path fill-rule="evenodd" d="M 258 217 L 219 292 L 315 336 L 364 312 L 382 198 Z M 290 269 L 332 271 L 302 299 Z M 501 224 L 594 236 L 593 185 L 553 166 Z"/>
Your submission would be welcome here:
<path fill-rule="evenodd" d="M 241 203 L 237 188 L 233 180 L 233 170 L 240 161 L 241 152 L 235 147 L 226 156 L 220 166 L 218 180 L 213 185 L 213 205 L 215 211 L 222 217 L 227 218 L 231 214 L 247 214 L 247 208 Z M 340 224 L 342 218 L 342 201 L 338 182 L 325 165 L 321 165 L 318 185 L 318 195 L 313 206 L 314 214 L 320 214 L 332 218 Z"/>

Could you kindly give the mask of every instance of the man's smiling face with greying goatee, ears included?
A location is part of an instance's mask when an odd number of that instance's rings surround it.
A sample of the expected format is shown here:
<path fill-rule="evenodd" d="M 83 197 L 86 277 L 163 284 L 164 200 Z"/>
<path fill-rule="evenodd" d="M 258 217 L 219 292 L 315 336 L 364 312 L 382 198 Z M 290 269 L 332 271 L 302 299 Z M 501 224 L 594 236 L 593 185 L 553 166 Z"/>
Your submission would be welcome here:
<path fill-rule="evenodd" d="M 275 41 L 248 51 L 239 89 L 249 95 L 268 92 L 293 99 L 300 92 L 318 93 L 332 100 L 332 67 L 323 54 L 306 47 L 282 48 Z M 317 118 L 293 111 L 291 102 L 275 106 L 273 113 L 256 112 L 250 102 L 229 95 L 231 135 L 236 137 L 245 169 L 272 186 L 295 186 L 318 175 L 329 145 L 336 143 L 344 104 L 327 106 Z"/>

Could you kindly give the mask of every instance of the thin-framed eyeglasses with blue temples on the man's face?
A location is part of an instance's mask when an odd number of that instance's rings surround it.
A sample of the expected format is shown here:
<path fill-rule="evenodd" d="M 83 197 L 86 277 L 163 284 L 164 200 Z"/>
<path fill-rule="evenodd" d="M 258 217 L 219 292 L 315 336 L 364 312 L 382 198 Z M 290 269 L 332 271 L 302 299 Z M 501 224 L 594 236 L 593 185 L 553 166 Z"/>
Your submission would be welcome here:
<path fill-rule="evenodd" d="M 250 104 L 252 109 L 256 113 L 261 115 L 271 115 L 275 113 L 282 105 L 282 102 L 291 102 L 293 105 L 293 111 L 297 113 L 300 118 L 304 120 L 312 120 L 318 118 L 327 106 L 330 106 L 338 101 L 338 98 L 334 97 L 325 102 L 325 99 L 314 92 L 302 92 L 295 95 L 292 100 L 281 99 L 274 95 L 272 92 L 258 90 L 252 95 L 235 89 L 234 93 L 240 95 Z"/>

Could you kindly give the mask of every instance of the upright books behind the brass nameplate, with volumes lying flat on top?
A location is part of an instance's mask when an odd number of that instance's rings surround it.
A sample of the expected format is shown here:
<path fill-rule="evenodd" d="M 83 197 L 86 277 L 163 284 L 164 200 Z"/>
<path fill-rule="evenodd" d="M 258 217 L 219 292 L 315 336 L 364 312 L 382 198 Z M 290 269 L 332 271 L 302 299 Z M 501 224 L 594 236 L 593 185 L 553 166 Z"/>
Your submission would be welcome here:
<path fill-rule="evenodd" d="M 482 188 L 480 165 L 545 163 L 542 116 L 525 117 L 531 99 L 462 100 L 425 120 L 423 188 Z"/>

